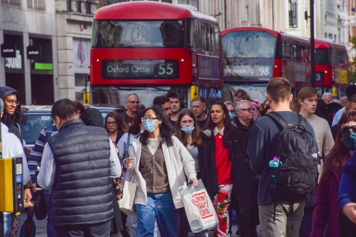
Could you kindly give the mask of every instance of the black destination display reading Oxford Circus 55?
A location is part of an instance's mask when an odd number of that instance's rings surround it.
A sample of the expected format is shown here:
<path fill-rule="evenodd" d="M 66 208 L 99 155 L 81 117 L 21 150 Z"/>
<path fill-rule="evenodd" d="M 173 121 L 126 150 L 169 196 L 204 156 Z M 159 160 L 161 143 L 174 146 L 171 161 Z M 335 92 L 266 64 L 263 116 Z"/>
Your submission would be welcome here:
<path fill-rule="evenodd" d="M 103 60 L 103 79 L 176 79 L 178 60 Z"/>

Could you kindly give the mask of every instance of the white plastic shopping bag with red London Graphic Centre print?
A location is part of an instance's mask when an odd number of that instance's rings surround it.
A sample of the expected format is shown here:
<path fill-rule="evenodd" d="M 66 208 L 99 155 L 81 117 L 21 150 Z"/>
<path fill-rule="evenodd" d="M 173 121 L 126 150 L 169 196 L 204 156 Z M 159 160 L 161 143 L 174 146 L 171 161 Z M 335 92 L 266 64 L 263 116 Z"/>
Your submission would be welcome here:
<path fill-rule="evenodd" d="M 202 232 L 218 225 L 215 208 L 201 179 L 196 187 L 193 184 L 187 186 L 183 203 L 192 232 Z"/>

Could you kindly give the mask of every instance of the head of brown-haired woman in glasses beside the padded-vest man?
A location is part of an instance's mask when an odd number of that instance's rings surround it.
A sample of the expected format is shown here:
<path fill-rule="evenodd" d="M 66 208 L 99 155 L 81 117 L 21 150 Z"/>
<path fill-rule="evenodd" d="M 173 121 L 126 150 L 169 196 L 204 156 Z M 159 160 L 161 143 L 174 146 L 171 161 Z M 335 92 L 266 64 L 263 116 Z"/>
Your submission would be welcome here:
<path fill-rule="evenodd" d="M 126 123 L 121 115 L 112 111 L 106 114 L 104 128 L 108 131 L 110 139 L 117 145 L 118 141 L 125 132 L 128 132 Z"/>

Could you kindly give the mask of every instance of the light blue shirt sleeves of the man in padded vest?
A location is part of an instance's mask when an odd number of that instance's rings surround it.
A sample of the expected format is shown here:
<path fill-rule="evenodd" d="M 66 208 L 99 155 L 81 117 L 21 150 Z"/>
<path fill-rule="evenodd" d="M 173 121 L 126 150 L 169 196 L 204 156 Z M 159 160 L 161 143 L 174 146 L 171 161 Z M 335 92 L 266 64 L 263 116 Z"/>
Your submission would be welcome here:
<path fill-rule="evenodd" d="M 109 139 L 110 144 L 110 178 L 115 179 L 121 176 L 121 164 L 116 153 L 114 144 Z M 56 160 L 54 159 L 50 145 L 46 143 L 43 149 L 41 169 L 37 175 L 37 183 L 44 189 L 52 188 L 56 177 Z"/>

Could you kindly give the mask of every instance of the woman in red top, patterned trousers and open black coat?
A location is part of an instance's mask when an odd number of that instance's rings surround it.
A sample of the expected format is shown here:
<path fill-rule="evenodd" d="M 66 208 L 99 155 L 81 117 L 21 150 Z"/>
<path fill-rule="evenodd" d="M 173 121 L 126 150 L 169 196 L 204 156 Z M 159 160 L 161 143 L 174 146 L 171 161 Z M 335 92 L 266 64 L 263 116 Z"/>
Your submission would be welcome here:
<path fill-rule="evenodd" d="M 224 103 L 215 102 L 210 108 L 207 125 L 203 129 L 203 146 L 206 156 L 213 156 L 216 164 L 218 194 L 213 201 L 219 220 L 218 236 L 228 236 L 229 205 L 234 188 L 240 212 L 248 215 L 251 211 L 251 192 L 246 169 L 246 155 L 240 148 L 239 130 L 232 125 L 228 108 Z M 217 198 L 218 197 L 218 198 Z M 248 228 L 249 218 L 243 220 L 241 228 Z M 246 223 L 245 223 L 246 222 Z"/>

